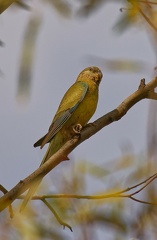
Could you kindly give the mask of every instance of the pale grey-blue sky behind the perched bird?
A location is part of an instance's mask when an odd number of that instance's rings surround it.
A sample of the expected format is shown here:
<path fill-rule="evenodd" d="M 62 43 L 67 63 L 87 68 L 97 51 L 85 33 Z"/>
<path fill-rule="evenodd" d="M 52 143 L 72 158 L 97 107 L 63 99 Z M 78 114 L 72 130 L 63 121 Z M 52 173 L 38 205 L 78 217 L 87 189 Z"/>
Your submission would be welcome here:
<path fill-rule="evenodd" d="M 150 81 L 155 55 L 145 26 L 133 26 L 121 33 L 114 28 L 122 14 L 121 4 L 108 4 L 88 18 L 65 19 L 49 5 L 30 11 L 9 8 L 0 16 L 0 183 L 12 188 L 40 164 L 46 151 L 33 148 L 52 121 L 59 102 L 82 69 L 96 65 L 103 72 L 97 111 L 91 121 L 116 108 L 137 90 L 141 78 Z M 40 29 L 35 45 L 31 92 L 27 101 L 17 99 L 19 61 L 27 24 L 34 15 Z M 140 60 L 148 70 L 114 72 L 105 67 L 104 59 Z M 118 122 L 102 129 L 77 147 L 73 161 L 86 160 L 105 166 L 122 155 L 128 144 L 134 153 L 146 151 L 147 120 L 150 101 L 136 104 Z M 70 161 L 58 166 L 56 172 Z"/>

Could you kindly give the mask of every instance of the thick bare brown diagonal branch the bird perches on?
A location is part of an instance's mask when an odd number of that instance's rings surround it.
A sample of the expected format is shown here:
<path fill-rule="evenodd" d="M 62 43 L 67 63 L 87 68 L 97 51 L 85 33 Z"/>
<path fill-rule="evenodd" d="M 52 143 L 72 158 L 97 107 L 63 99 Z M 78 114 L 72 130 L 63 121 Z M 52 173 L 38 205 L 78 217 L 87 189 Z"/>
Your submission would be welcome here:
<path fill-rule="evenodd" d="M 67 141 L 65 145 L 59 149 L 48 161 L 40 166 L 36 171 L 21 180 L 15 187 L 0 198 L 0 211 L 4 210 L 9 206 L 16 198 L 24 193 L 30 185 L 37 179 L 43 178 L 53 168 L 65 160 L 73 149 L 75 149 L 80 143 L 93 136 L 95 133 L 100 131 L 103 127 L 111 124 L 114 121 L 121 119 L 127 111 L 133 107 L 137 102 L 142 99 L 156 99 L 157 93 L 154 89 L 157 87 L 157 77 L 145 85 L 145 80 L 142 79 L 140 86 L 136 92 L 127 97 L 116 109 L 105 114 L 101 118 L 97 119 L 92 124 L 88 124 L 81 131 L 80 137 L 75 135 L 71 140 Z"/>

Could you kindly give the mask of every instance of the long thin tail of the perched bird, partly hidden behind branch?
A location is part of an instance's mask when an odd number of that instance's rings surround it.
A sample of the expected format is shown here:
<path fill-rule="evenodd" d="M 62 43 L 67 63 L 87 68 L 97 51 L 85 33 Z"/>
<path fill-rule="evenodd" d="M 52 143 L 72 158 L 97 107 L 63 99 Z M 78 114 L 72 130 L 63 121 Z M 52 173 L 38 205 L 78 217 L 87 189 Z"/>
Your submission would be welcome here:
<path fill-rule="evenodd" d="M 48 147 L 48 149 L 47 149 L 47 151 L 45 153 L 45 156 L 44 156 L 40 166 L 50 158 L 50 153 L 51 153 L 51 143 L 49 144 L 49 147 Z M 24 197 L 24 200 L 23 200 L 23 202 L 22 202 L 22 204 L 20 206 L 20 212 L 22 212 L 25 209 L 28 201 L 32 199 L 32 197 L 35 194 L 35 192 L 36 192 L 38 186 L 40 185 L 41 181 L 42 181 L 42 178 L 37 179 L 32 184 L 32 186 L 29 188 L 29 190 L 28 190 L 26 196 Z"/>

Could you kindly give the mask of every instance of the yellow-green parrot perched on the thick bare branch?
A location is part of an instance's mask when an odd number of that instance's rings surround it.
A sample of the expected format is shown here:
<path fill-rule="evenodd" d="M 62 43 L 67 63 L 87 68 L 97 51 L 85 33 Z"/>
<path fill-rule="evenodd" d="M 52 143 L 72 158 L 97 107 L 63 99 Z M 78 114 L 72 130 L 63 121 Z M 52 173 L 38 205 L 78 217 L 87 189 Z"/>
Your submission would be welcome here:
<path fill-rule="evenodd" d="M 78 75 L 76 82 L 65 93 L 48 133 L 34 144 L 34 147 L 43 148 L 46 143 L 49 143 L 41 165 L 71 138 L 74 126 L 77 124 L 86 125 L 93 116 L 98 103 L 98 87 L 102 76 L 98 67 L 87 67 Z M 32 198 L 41 180 L 37 180 L 30 187 L 20 210 L 23 210 Z"/>

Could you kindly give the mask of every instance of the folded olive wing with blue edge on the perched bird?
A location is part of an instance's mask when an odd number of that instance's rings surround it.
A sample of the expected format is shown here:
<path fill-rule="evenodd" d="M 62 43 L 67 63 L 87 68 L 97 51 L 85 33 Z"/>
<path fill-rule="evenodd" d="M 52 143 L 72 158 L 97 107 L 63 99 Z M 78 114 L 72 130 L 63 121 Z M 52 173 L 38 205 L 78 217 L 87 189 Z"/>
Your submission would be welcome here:
<path fill-rule="evenodd" d="M 87 89 L 88 85 L 84 82 L 76 82 L 69 88 L 59 105 L 48 133 L 43 138 L 39 139 L 34 144 L 34 147 L 41 146 L 42 148 L 46 143 L 50 142 L 82 102 L 87 93 Z"/>

